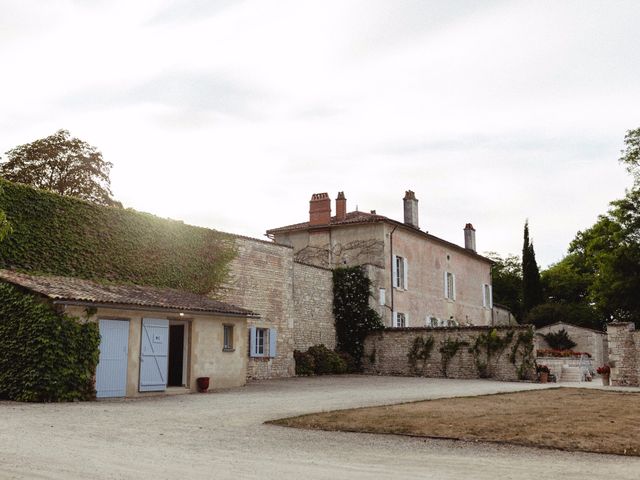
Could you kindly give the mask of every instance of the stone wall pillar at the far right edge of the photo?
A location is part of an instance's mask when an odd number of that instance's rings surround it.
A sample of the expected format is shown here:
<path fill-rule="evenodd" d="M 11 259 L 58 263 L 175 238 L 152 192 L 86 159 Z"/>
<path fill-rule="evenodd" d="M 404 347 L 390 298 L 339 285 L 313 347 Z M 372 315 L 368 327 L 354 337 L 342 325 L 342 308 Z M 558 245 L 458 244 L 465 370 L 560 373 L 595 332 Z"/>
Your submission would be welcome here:
<path fill-rule="evenodd" d="M 640 331 L 633 323 L 607 324 L 611 385 L 640 386 Z"/>

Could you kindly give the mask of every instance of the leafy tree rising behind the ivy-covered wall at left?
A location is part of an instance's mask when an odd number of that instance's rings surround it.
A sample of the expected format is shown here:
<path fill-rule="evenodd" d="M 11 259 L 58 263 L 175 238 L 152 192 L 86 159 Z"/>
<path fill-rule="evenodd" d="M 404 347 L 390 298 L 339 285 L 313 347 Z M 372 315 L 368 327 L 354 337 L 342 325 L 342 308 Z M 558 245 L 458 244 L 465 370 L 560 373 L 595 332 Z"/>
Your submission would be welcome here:
<path fill-rule="evenodd" d="M 111 198 L 109 172 L 113 165 L 67 130 L 15 147 L 6 156 L 0 175 L 7 180 L 99 205 L 119 205 Z"/>

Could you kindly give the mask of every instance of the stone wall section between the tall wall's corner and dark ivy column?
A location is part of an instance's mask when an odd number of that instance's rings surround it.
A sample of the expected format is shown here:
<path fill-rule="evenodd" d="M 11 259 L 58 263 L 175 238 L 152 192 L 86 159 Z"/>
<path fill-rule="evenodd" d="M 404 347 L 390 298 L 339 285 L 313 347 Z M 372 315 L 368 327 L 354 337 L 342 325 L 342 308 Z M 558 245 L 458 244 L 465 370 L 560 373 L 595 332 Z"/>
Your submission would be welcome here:
<path fill-rule="evenodd" d="M 333 277 L 329 269 L 293 263 L 293 343 L 297 350 L 336 346 Z"/>

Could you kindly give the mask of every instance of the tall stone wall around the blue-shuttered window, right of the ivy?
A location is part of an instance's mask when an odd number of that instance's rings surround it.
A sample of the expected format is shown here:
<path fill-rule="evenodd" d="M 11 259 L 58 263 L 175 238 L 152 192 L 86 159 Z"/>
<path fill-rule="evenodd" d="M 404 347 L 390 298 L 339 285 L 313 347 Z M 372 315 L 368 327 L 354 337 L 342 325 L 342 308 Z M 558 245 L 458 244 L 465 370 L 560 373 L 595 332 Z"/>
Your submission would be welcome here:
<path fill-rule="evenodd" d="M 260 314 L 248 320 L 248 328 L 275 328 L 278 335 L 276 357 L 249 358 L 247 378 L 293 376 L 293 250 L 241 236 L 236 236 L 236 248 L 229 282 L 216 297 Z"/>

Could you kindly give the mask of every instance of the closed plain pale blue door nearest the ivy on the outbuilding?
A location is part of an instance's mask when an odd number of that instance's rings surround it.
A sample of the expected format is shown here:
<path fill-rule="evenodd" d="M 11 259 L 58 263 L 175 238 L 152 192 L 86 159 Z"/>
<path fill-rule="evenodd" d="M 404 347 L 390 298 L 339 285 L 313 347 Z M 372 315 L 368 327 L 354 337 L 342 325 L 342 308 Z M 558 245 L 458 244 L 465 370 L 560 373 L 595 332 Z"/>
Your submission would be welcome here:
<path fill-rule="evenodd" d="M 129 322 L 100 320 L 100 359 L 96 368 L 96 396 L 124 397 L 127 393 Z"/>

